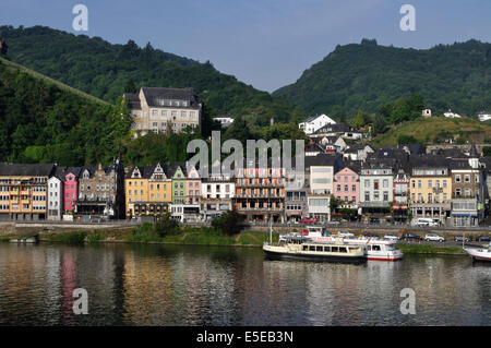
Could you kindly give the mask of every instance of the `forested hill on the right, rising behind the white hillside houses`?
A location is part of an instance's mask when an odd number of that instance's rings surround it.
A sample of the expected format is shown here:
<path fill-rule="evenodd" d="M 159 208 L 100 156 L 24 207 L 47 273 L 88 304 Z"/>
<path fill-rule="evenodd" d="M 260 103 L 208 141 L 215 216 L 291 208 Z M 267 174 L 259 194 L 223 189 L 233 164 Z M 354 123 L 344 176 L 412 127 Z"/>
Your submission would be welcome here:
<path fill-rule="evenodd" d="M 337 46 L 300 79 L 273 95 L 306 111 L 352 118 L 420 93 L 434 113 L 475 117 L 491 109 L 491 44 L 469 40 L 431 49 L 379 46 L 375 40 Z"/>

